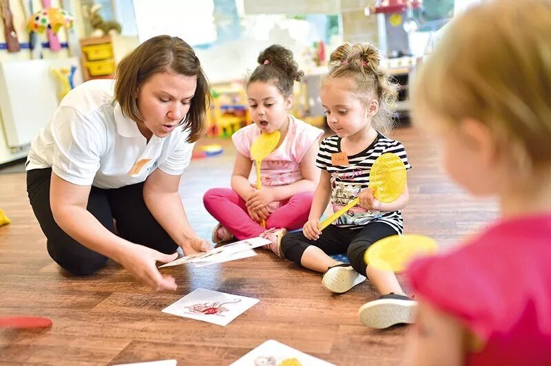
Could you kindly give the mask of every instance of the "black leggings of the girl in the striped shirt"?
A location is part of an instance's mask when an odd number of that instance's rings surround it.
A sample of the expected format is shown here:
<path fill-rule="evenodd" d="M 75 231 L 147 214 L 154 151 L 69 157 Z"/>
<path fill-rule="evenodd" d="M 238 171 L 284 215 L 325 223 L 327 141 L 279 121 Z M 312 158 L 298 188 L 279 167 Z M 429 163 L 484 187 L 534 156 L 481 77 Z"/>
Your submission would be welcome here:
<path fill-rule="evenodd" d="M 282 237 L 281 249 L 285 258 L 300 264 L 304 250 L 309 246 L 317 246 L 326 255 L 334 255 L 346 252 L 350 264 L 360 275 L 366 276 L 366 262 L 364 253 L 375 241 L 397 235 L 390 225 L 383 222 L 370 222 L 364 228 L 351 229 L 329 225 L 324 228 L 320 239 L 310 240 L 302 231 L 289 233 Z"/>

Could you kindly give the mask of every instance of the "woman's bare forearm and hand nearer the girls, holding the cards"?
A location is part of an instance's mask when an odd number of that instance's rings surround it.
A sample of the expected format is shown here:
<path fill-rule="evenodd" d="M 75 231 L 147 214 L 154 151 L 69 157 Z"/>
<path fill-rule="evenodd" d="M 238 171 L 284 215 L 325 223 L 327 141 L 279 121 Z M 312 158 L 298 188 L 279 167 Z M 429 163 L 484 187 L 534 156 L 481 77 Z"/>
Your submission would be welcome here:
<path fill-rule="evenodd" d="M 208 250 L 209 244 L 200 239 L 187 221 L 182 198 L 178 193 L 181 175 L 171 175 L 156 169 L 143 186 L 143 199 L 153 217 L 167 231 L 185 255 Z"/>

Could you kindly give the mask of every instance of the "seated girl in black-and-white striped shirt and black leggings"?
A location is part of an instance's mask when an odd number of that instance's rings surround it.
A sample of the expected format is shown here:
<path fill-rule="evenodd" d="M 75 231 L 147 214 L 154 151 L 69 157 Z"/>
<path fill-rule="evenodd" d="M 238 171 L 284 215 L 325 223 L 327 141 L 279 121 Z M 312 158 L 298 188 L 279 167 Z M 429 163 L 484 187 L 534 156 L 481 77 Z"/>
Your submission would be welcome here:
<path fill-rule="evenodd" d="M 302 233 L 282 238 L 287 259 L 324 273 L 322 285 L 335 293 L 350 290 L 366 277 L 382 296 L 360 308 L 360 319 L 372 327 L 411 323 L 415 301 L 404 294 L 395 274 L 366 266 L 364 253 L 375 241 L 402 234 L 400 210 L 408 204 L 408 189 L 394 202 L 382 203 L 368 188 L 376 158 L 395 153 L 410 169 L 404 146 L 387 138 L 392 120 L 388 105 L 397 97 L 397 85 L 380 67 L 381 55 L 373 45 L 344 44 L 329 61 L 322 80 L 321 99 L 327 123 L 336 133 L 322 141 L 316 164 L 322 169 L 314 193 L 309 221 Z M 333 211 L 360 197 L 360 204 L 323 230 L 320 217 L 329 200 Z M 329 257 L 346 252 L 350 263 Z"/>

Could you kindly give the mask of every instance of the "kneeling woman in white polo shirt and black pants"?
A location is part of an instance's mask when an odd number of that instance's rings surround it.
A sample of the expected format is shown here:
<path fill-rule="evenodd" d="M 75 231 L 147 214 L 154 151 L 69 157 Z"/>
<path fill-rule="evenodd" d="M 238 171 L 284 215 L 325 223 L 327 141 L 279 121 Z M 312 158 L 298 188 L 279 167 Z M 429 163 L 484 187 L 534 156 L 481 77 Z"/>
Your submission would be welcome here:
<path fill-rule="evenodd" d="M 152 288 L 176 289 L 156 261 L 209 247 L 178 195 L 209 100 L 194 50 L 170 36 L 138 46 L 115 81 L 65 96 L 27 161 L 30 204 L 59 266 L 88 275 L 109 257 Z"/>

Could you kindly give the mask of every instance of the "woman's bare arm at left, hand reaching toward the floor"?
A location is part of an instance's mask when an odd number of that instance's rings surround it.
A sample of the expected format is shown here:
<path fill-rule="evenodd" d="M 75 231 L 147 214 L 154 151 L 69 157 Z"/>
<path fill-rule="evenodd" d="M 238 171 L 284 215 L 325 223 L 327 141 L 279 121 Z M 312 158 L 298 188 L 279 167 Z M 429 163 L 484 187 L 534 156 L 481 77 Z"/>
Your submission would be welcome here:
<path fill-rule="evenodd" d="M 50 207 L 56 224 L 83 246 L 121 263 L 137 279 L 156 290 L 176 290 L 173 277 L 161 275 L 156 261 L 169 262 L 174 255 L 131 243 L 107 230 L 86 210 L 90 186 L 67 182 L 52 172 Z"/>

